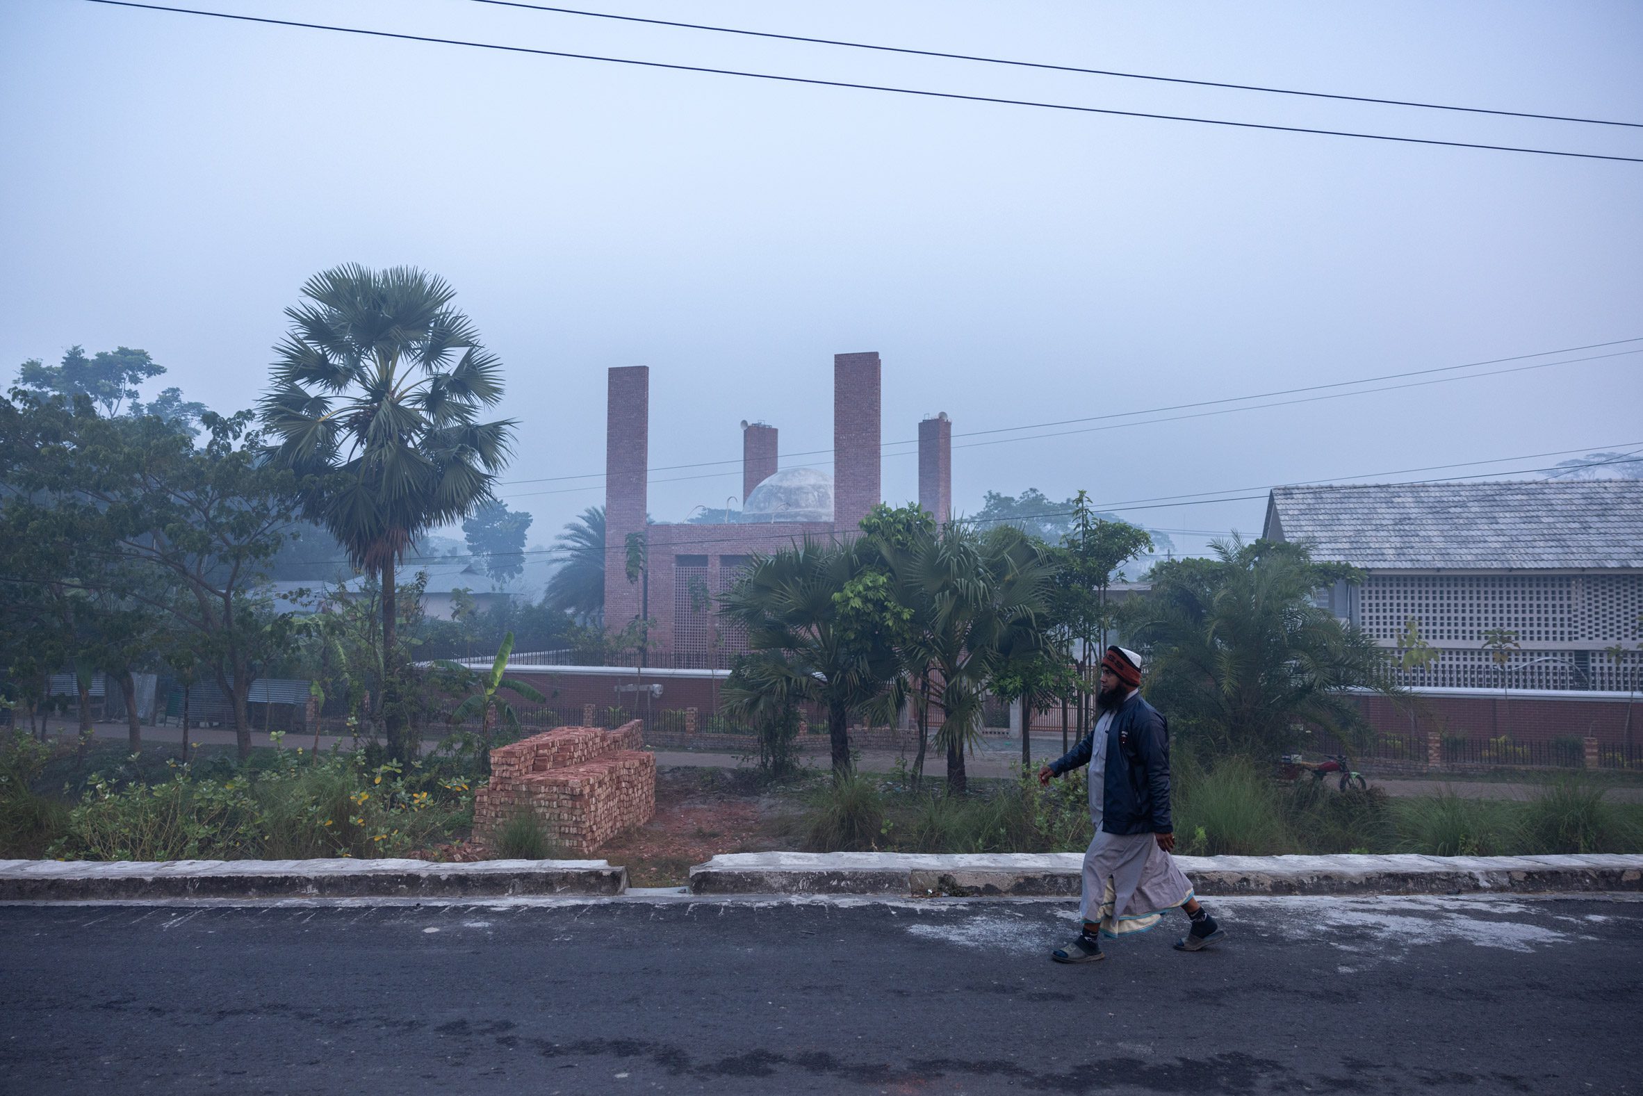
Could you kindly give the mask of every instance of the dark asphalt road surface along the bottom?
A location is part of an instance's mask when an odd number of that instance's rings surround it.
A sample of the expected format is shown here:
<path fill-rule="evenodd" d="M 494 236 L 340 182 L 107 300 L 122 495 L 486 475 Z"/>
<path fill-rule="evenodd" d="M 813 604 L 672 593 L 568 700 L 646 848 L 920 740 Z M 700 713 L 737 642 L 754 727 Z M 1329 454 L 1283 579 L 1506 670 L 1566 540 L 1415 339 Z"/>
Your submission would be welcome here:
<path fill-rule="evenodd" d="M 1643 902 L 5 905 L 7 1093 L 1636 1093 Z M 1181 919 L 1185 920 L 1185 919 Z"/>

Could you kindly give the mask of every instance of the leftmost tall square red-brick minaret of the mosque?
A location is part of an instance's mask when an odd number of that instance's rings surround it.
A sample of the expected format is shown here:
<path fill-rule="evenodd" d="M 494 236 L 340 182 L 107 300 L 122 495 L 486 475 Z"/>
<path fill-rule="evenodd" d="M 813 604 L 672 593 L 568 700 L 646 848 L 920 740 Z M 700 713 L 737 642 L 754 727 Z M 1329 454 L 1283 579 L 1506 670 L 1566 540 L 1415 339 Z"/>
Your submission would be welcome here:
<path fill-rule="evenodd" d="M 651 450 L 651 366 L 610 371 L 605 408 L 605 626 L 639 616 L 639 583 L 628 582 L 628 534 L 644 531 L 644 470 Z"/>

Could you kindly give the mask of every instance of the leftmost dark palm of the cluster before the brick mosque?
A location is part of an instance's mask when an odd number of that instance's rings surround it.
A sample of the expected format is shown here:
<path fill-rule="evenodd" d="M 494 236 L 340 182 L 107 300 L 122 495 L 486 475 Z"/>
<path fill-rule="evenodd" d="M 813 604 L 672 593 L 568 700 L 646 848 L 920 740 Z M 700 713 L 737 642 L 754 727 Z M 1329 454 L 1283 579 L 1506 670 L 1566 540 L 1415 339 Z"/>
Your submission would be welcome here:
<path fill-rule="evenodd" d="M 840 603 L 874 559 L 861 541 L 831 546 L 805 537 L 754 557 L 720 596 L 720 611 L 746 629 L 751 649 L 725 682 L 725 711 L 752 720 L 785 705 L 820 705 L 835 779 L 851 769 L 849 716 L 866 710 L 897 675 L 895 652 L 882 631 Z"/>

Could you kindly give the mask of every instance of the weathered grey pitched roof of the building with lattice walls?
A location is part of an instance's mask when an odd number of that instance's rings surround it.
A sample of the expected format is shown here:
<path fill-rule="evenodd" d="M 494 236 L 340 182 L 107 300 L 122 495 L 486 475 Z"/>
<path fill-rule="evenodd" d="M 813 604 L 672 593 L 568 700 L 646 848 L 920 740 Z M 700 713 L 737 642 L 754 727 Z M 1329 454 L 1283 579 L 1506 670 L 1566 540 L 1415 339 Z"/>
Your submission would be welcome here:
<path fill-rule="evenodd" d="M 1643 569 L 1643 480 L 1280 486 L 1263 536 L 1372 570 Z"/>

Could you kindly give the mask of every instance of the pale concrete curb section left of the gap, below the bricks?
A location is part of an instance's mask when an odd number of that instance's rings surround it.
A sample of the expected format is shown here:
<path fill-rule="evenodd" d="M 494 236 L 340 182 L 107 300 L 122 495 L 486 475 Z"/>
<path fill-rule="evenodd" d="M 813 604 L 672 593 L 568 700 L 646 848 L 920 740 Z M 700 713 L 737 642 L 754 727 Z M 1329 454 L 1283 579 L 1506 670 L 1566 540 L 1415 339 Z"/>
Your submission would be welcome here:
<path fill-rule="evenodd" d="M 616 896 L 628 869 L 603 859 L 0 861 L 5 900 Z"/>

